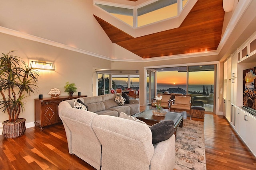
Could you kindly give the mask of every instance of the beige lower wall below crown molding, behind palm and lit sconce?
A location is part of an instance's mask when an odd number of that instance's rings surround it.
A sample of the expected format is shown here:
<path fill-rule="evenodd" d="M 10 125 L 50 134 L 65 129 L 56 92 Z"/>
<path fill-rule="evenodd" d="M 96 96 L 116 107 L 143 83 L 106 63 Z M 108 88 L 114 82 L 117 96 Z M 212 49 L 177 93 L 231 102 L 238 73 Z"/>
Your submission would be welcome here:
<path fill-rule="evenodd" d="M 94 68 L 111 68 L 111 61 L 90 55 L 14 37 L 4 33 L 0 33 L 0 39 L 0 53 L 6 54 L 8 51 L 17 50 L 13 55 L 22 57 L 22 60 L 27 64 L 30 59 L 36 61 L 43 59 L 44 61 L 54 62 L 56 67 L 55 71 L 40 70 L 40 78 L 37 84 L 39 91 L 26 98 L 24 112 L 19 116 L 20 118 L 25 118 L 26 123 L 34 122 L 34 99 L 38 98 L 38 94 L 43 94 L 43 97 L 50 97 L 48 92 L 51 88 L 56 87 L 61 90 L 60 96 L 68 96 L 68 94 L 64 92 L 64 86 L 66 82 L 69 81 L 76 84 L 81 94 L 92 96 Z M 77 95 L 77 93 L 75 95 Z M 2 110 L 0 110 L 0 113 L 0 122 L 8 119 L 7 113 L 2 113 Z"/>

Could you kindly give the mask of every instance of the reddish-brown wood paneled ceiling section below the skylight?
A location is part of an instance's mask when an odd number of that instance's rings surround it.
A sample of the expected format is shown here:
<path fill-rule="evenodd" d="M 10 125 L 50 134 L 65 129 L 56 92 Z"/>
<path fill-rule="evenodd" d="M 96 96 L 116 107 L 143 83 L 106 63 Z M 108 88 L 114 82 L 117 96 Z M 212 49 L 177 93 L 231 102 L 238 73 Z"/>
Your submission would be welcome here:
<path fill-rule="evenodd" d="M 180 27 L 136 38 L 94 17 L 112 43 L 146 59 L 216 50 L 224 14 L 222 0 L 198 0 Z"/>

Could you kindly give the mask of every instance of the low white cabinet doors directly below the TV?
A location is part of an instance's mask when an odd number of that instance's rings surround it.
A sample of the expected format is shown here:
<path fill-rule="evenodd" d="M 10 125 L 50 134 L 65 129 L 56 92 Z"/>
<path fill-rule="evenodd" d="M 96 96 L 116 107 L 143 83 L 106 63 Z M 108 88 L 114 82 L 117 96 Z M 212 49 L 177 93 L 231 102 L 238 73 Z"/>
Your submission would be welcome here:
<path fill-rule="evenodd" d="M 239 110 L 239 135 L 242 137 L 248 148 L 256 154 L 256 116 L 244 111 L 242 109 Z"/>

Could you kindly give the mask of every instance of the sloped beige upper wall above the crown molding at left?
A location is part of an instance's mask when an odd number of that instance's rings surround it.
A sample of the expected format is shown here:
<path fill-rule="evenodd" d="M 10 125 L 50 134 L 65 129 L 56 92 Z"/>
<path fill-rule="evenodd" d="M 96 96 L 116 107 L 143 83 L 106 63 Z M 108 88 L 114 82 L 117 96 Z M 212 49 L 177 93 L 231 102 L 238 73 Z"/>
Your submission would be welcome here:
<path fill-rule="evenodd" d="M 92 0 L 0 0 L 0 26 L 112 58 Z"/>

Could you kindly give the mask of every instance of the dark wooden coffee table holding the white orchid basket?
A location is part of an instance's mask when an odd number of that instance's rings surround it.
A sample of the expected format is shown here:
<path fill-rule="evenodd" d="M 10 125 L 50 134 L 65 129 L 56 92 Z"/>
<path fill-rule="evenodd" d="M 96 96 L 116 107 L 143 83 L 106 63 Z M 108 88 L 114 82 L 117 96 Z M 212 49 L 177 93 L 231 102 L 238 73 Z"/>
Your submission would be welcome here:
<path fill-rule="evenodd" d="M 176 112 L 170 112 L 167 111 L 165 116 L 155 116 L 152 113 L 152 109 L 142 111 L 140 113 L 137 113 L 135 115 L 132 115 L 141 121 L 144 121 L 148 125 L 152 126 L 160 121 L 165 121 L 165 120 L 173 120 L 174 121 L 174 135 L 176 137 L 176 131 L 178 127 L 183 126 L 183 117 L 182 113 L 176 113 Z"/>

